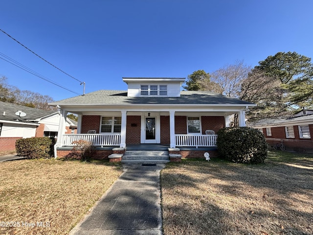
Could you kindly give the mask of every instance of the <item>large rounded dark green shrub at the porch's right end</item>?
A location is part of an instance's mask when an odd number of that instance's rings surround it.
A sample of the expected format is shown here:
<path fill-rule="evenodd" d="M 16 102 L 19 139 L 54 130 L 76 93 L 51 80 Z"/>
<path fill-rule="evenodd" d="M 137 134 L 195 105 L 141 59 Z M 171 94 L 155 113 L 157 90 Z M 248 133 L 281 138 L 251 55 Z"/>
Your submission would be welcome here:
<path fill-rule="evenodd" d="M 217 133 L 219 155 L 235 163 L 264 163 L 268 145 L 264 135 L 248 127 L 226 127 Z"/>

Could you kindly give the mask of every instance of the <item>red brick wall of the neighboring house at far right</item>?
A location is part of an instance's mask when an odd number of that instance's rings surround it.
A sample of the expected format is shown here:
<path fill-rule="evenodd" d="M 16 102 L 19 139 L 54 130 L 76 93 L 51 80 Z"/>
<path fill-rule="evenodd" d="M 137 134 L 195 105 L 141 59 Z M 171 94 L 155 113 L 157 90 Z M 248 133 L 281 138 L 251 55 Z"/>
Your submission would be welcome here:
<path fill-rule="evenodd" d="M 283 139 L 283 143 L 286 146 L 286 150 L 297 152 L 313 152 L 313 125 L 309 125 L 311 138 L 301 139 L 299 136 L 298 126 L 293 126 L 294 138 L 286 138 L 285 127 L 271 127 L 271 136 L 267 136 L 266 128 L 263 128 L 263 133 L 270 146 L 280 142 Z"/>

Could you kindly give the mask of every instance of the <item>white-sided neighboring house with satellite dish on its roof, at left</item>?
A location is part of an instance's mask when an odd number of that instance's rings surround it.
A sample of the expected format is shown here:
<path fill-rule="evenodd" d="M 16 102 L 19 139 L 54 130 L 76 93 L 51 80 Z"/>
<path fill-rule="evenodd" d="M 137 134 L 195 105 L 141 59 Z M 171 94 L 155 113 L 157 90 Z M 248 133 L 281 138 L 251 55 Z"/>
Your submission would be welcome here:
<path fill-rule="evenodd" d="M 56 137 L 59 123 L 59 111 L 46 111 L 0 101 L 0 151 L 15 150 L 17 139 Z M 77 123 L 67 118 L 63 133 L 77 133 Z"/>

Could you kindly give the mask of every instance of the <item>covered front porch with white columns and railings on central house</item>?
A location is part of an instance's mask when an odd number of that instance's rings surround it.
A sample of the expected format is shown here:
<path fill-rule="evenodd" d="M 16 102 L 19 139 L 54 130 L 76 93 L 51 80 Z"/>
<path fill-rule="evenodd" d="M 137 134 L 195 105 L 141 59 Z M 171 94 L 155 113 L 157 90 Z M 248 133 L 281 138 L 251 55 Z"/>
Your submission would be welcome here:
<path fill-rule="evenodd" d="M 71 113 L 72 110 L 70 110 Z M 97 147 L 128 144 L 167 144 L 176 147 L 216 147 L 216 132 L 229 126 L 229 116 L 238 114 L 245 126 L 245 111 L 219 110 L 164 111 L 123 110 L 77 112 L 78 134 L 64 133 L 67 111 L 62 110 L 57 146 L 73 146 L 75 141 L 89 141 Z"/>

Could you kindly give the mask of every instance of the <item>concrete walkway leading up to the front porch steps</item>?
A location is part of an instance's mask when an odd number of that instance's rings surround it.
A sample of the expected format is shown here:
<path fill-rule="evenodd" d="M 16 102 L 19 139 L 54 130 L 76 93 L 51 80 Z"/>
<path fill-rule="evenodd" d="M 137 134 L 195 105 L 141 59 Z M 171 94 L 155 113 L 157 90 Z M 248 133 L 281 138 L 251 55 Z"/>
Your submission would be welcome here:
<path fill-rule="evenodd" d="M 124 164 L 124 173 L 70 235 L 161 235 L 160 170 Z"/>

